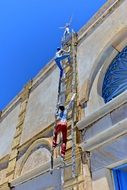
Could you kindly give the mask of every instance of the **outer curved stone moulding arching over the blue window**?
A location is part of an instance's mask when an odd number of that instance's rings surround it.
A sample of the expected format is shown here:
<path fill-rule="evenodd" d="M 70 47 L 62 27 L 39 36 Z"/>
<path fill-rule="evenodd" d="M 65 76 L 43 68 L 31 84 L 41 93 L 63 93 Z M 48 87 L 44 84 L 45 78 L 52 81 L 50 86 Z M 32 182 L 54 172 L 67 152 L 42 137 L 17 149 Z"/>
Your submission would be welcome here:
<path fill-rule="evenodd" d="M 99 57 L 97 57 L 97 59 L 95 60 L 95 64 L 93 65 L 92 71 L 91 71 L 88 81 L 87 81 L 87 85 L 85 85 L 86 86 L 85 95 L 84 95 L 84 97 L 82 97 L 82 95 L 80 97 L 81 104 L 83 104 L 89 100 L 93 81 L 98 73 L 98 70 L 102 69 L 103 75 L 104 75 L 106 73 L 107 65 L 110 65 L 111 61 L 114 59 L 114 57 L 113 57 L 114 53 L 116 53 L 115 54 L 115 56 L 116 56 L 119 52 L 121 52 L 123 50 L 123 48 L 126 46 L 126 44 L 127 44 L 127 27 L 123 27 L 106 44 L 106 46 L 103 48 Z M 109 58 L 110 58 L 110 61 L 109 61 Z M 103 66 L 105 67 L 105 65 L 106 65 L 106 69 L 105 68 L 103 69 Z M 101 75 L 101 72 L 100 72 L 100 75 Z M 99 77 L 99 79 L 100 79 L 100 77 Z M 103 83 L 104 77 L 101 77 L 101 79 L 102 79 L 101 86 L 100 85 L 98 85 L 98 86 L 100 88 L 99 91 L 101 91 L 101 92 L 99 92 L 99 95 L 102 96 L 102 83 Z M 100 81 L 99 81 L 99 84 L 100 84 Z"/>

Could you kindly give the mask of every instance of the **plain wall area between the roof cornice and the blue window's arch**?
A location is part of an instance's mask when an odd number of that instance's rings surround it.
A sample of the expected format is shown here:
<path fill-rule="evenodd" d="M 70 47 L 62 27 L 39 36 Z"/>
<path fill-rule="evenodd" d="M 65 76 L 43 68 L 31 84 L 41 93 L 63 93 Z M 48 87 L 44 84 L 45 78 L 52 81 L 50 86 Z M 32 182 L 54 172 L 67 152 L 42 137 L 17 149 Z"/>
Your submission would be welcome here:
<path fill-rule="evenodd" d="M 92 77 L 98 72 L 98 69 L 103 64 L 99 62 L 100 57 L 108 46 L 112 45 L 112 41 L 116 38 L 120 30 L 123 30 L 127 25 L 127 1 L 124 1 L 106 20 L 97 27 L 91 35 L 89 35 L 78 46 L 78 73 L 79 73 L 79 90 L 80 99 L 84 84 L 86 81 L 91 83 Z M 98 65 L 100 64 L 100 65 Z M 86 86 L 86 85 L 85 85 Z M 87 89 L 89 90 L 89 89 Z M 84 96 L 87 94 L 84 92 Z"/>

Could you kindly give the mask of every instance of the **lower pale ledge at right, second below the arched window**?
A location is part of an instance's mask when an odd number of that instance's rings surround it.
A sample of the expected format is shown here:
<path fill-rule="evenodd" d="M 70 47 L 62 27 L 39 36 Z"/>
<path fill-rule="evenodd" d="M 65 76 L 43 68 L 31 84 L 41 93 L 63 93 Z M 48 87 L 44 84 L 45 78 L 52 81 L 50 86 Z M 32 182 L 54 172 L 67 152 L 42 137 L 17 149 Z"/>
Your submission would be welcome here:
<path fill-rule="evenodd" d="M 106 143 L 114 141 L 125 133 L 127 133 L 127 118 L 82 142 L 80 147 L 83 151 L 92 151 Z"/>

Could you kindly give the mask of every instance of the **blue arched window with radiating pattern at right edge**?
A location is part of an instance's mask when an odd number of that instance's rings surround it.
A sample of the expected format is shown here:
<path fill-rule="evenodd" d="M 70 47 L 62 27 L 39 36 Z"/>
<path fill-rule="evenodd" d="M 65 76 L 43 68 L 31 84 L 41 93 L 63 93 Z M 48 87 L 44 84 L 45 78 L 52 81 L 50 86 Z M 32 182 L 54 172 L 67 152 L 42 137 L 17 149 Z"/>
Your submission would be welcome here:
<path fill-rule="evenodd" d="M 109 66 L 103 82 L 102 97 L 109 102 L 127 89 L 127 46 Z"/>

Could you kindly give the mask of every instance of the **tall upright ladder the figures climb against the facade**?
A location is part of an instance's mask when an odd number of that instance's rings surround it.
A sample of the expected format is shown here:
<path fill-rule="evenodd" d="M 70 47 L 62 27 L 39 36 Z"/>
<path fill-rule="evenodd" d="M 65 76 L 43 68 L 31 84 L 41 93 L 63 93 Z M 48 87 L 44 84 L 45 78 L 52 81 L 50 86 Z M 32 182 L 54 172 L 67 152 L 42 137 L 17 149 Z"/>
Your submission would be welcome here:
<path fill-rule="evenodd" d="M 65 60 L 63 65 L 64 67 L 64 72 L 66 73 L 66 77 L 64 79 L 59 79 L 59 87 L 58 87 L 58 97 L 57 97 L 57 105 L 56 108 L 58 107 L 58 103 L 61 102 L 65 104 L 65 106 L 69 103 L 72 94 L 77 93 L 77 64 L 76 64 L 76 39 L 77 35 L 76 33 L 72 32 L 71 39 L 66 42 L 63 45 L 63 49 L 67 49 L 70 47 L 70 58 L 71 58 L 71 63 L 68 64 L 68 62 Z M 77 99 L 77 96 L 76 96 Z M 68 123 L 71 126 L 70 127 L 70 132 L 71 132 L 71 138 L 70 141 L 72 142 L 72 151 L 71 151 L 71 163 L 66 163 L 63 160 L 63 164 L 60 166 L 61 168 L 61 183 L 62 186 L 64 185 L 64 171 L 66 167 L 72 168 L 72 178 L 75 178 L 77 176 L 76 174 L 76 138 L 75 138 L 75 123 L 77 120 L 77 113 L 76 113 L 76 99 L 72 105 L 71 110 L 69 111 L 68 114 Z M 55 122 L 56 124 L 56 122 Z M 59 144 L 60 145 L 60 144 Z M 54 149 L 52 149 L 51 152 L 51 174 L 53 173 L 53 157 L 54 157 Z"/>

